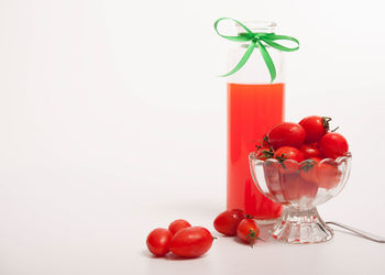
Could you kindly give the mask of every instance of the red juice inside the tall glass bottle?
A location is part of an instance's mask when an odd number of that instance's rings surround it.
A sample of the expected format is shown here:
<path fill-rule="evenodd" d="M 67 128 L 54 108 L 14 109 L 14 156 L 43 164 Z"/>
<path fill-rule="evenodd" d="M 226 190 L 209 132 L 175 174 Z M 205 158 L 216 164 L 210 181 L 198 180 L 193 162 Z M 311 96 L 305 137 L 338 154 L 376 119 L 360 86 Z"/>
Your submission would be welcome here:
<path fill-rule="evenodd" d="M 249 153 L 284 119 L 284 84 L 228 84 L 228 209 L 276 219 L 283 207 L 263 196 L 249 168 Z"/>

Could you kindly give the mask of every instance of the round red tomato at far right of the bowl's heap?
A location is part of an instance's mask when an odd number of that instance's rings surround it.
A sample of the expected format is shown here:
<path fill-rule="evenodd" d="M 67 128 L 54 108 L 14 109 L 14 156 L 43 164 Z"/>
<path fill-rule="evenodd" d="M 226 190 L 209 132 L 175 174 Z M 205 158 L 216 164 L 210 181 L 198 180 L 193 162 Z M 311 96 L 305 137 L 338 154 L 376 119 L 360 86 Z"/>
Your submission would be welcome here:
<path fill-rule="evenodd" d="M 319 150 L 326 157 L 337 158 L 343 156 L 349 151 L 349 145 L 341 134 L 327 133 L 319 141 Z"/>

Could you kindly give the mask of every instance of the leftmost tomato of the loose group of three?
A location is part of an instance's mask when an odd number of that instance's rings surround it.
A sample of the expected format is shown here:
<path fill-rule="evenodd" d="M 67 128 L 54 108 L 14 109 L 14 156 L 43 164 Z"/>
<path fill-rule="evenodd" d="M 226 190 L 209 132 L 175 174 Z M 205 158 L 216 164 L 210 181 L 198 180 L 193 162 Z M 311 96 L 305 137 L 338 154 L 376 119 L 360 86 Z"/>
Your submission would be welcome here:
<path fill-rule="evenodd" d="M 151 253 L 156 256 L 164 256 L 169 251 L 172 233 L 164 228 L 157 228 L 147 235 L 146 244 Z"/>

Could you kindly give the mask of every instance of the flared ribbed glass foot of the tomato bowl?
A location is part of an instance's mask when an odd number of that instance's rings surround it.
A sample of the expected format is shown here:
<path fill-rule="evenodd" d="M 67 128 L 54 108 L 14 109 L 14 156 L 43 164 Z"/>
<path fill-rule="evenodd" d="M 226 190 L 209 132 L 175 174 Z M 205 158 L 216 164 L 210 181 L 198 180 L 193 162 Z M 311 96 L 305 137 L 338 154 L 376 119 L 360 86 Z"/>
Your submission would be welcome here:
<path fill-rule="evenodd" d="M 277 241 L 297 244 L 327 242 L 334 235 L 316 208 L 301 210 L 293 206 L 285 208 L 270 233 Z"/>

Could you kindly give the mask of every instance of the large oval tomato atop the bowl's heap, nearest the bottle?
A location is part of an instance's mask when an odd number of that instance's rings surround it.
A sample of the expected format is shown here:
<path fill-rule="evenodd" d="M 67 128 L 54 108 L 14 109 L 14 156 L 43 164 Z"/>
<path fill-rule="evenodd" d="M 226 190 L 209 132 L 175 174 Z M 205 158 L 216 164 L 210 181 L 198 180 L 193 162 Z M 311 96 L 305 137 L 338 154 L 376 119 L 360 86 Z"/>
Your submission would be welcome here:
<path fill-rule="evenodd" d="M 273 127 L 268 134 L 268 143 L 277 150 L 282 146 L 299 147 L 306 138 L 305 129 L 292 122 L 282 122 Z"/>

